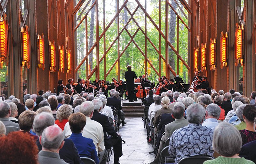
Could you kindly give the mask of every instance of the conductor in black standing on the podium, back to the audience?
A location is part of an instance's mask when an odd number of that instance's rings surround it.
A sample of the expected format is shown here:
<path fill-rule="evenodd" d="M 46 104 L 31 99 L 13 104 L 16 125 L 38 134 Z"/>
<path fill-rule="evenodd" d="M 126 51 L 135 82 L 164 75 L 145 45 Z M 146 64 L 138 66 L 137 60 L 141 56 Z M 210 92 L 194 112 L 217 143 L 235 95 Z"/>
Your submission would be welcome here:
<path fill-rule="evenodd" d="M 129 102 L 133 102 L 133 94 L 134 94 L 134 78 L 137 79 L 137 76 L 134 71 L 132 71 L 132 66 L 127 66 L 126 72 L 124 72 L 124 78 L 126 79 L 126 90 L 128 92 L 128 100 Z"/>

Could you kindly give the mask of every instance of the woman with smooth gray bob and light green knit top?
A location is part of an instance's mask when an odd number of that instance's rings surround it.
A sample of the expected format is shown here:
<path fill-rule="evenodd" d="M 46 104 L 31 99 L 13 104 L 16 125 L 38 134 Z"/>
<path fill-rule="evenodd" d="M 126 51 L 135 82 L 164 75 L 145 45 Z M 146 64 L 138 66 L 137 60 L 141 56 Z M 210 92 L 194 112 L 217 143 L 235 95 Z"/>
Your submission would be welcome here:
<path fill-rule="evenodd" d="M 212 148 L 221 156 L 213 160 L 206 160 L 204 164 L 253 164 L 254 162 L 237 155 L 241 147 L 242 139 L 238 130 L 229 123 L 220 123 L 214 130 Z"/>

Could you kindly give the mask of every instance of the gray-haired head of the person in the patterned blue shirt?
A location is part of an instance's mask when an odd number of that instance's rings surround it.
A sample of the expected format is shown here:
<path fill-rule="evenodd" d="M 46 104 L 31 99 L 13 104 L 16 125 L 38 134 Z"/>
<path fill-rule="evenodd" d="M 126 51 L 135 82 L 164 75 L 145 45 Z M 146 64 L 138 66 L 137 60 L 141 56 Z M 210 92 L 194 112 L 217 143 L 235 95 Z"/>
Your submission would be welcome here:
<path fill-rule="evenodd" d="M 198 103 L 192 104 L 187 108 L 187 120 L 189 123 L 201 123 L 204 119 L 204 107 Z"/>

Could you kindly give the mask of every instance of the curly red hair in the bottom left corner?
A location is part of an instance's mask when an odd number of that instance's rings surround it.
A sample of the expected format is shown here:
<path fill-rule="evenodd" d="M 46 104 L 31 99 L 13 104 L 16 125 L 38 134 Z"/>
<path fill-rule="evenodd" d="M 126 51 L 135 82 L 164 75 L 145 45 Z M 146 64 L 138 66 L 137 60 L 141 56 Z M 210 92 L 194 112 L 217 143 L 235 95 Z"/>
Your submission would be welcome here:
<path fill-rule="evenodd" d="M 35 138 L 27 132 L 15 131 L 8 136 L 0 137 L 0 145 L 0 154 L 2 154 L 0 163 L 38 163 Z"/>

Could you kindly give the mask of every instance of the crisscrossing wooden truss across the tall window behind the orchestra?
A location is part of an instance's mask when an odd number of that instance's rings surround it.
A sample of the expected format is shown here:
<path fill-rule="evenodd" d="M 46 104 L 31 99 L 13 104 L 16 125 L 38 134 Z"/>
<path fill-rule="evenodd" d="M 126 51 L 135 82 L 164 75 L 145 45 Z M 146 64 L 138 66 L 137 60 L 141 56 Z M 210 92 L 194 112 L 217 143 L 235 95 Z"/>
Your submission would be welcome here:
<path fill-rule="evenodd" d="M 115 16 L 113 17 L 113 19 L 108 23 L 107 26 L 105 26 L 105 0 L 103 0 L 103 32 L 101 34 L 99 34 L 99 13 L 98 13 L 98 0 L 95 0 L 95 2 L 91 5 L 91 7 L 89 8 L 89 10 L 85 13 L 84 17 L 81 19 L 81 21 L 76 25 L 76 27 L 73 29 L 73 32 L 75 33 L 75 31 L 77 30 L 77 28 L 81 25 L 81 23 L 84 21 L 85 19 L 85 30 L 86 30 L 86 37 L 88 37 L 88 29 L 87 29 L 87 16 L 89 14 L 89 12 L 92 10 L 92 8 L 95 6 L 95 11 L 96 11 L 96 41 L 94 42 L 94 44 L 92 45 L 92 47 L 90 49 L 88 49 L 88 41 L 86 39 L 86 55 L 84 56 L 84 58 L 82 59 L 82 61 L 77 65 L 77 67 L 75 68 L 75 73 L 78 71 L 78 69 L 82 66 L 82 64 L 85 62 L 86 60 L 86 78 L 90 79 L 93 75 L 94 72 L 96 72 L 96 78 L 100 77 L 100 63 L 104 60 L 104 79 L 106 79 L 106 77 L 108 76 L 108 74 L 110 73 L 110 71 L 115 67 L 116 63 L 118 64 L 118 79 L 120 79 L 120 57 L 124 54 L 125 50 L 128 48 L 128 46 L 133 42 L 133 44 L 139 49 L 140 53 L 142 54 L 142 56 L 144 56 L 145 58 L 145 72 L 147 72 L 147 64 L 149 64 L 153 70 L 156 72 L 156 74 L 158 76 L 161 76 L 161 61 L 159 60 L 159 71 L 156 70 L 156 68 L 153 66 L 152 62 L 148 59 L 147 57 L 147 46 L 145 46 L 145 53 L 141 50 L 141 48 L 138 46 L 138 44 L 134 41 L 134 37 L 135 35 L 141 31 L 144 36 L 145 36 L 145 45 L 147 45 L 147 41 L 149 41 L 149 43 L 153 46 L 153 48 L 156 50 L 156 52 L 159 55 L 159 59 L 163 59 L 165 64 L 165 73 L 166 73 L 166 77 L 170 77 L 169 72 L 171 71 L 172 74 L 174 76 L 176 76 L 175 71 L 172 69 L 172 67 L 169 64 L 169 54 L 168 54 L 168 48 L 169 46 L 171 47 L 172 51 L 177 55 L 177 63 L 179 63 L 179 60 L 186 66 L 186 68 L 188 69 L 188 71 L 191 71 L 191 68 L 188 66 L 188 63 L 186 63 L 184 61 L 184 59 L 180 56 L 179 54 L 179 49 L 175 49 L 173 47 L 173 45 L 170 43 L 170 41 L 168 40 L 168 30 L 165 30 L 165 34 L 161 31 L 161 21 L 159 21 L 159 26 L 156 25 L 156 23 L 154 22 L 154 20 L 150 17 L 150 15 L 148 14 L 148 12 L 146 11 L 146 7 L 144 8 L 139 0 L 135 0 L 136 3 L 138 4 L 138 6 L 136 7 L 136 9 L 133 11 L 133 13 L 131 13 L 131 11 L 127 8 L 126 4 L 128 3 L 128 0 L 124 1 L 124 4 L 119 8 L 119 0 L 117 0 L 117 12 L 115 14 Z M 184 11 L 181 9 L 180 5 L 178 4 L 178 0 L 174 0 L 175 3 L 177 4 L 178 8 L 181 10 L 181 12 L 186 15 L 184 13 Z M 191 15 L 192 14 L 192 10 L 190 8 L 190 6 L 187 4 L 187 2 L 185 0 L 179 0 L 180 3 L 183 5 L 183 7 L 188 11 L 188 13 Z M 74 17 L 74 15 L 76 14 L 76 12 L 79 10 L 79 8 L 82 6 L 82 4 L 85 2 L 85 0 L 80 0 L 76 7 L 74 8 L 73 12 L 72 12 L 72 17 Z M 82 13 L 85 10 L 85 8 L 88 6 L 88 4 L 91 2 L 91 0 L 89 0 L 85 7 L 82 9 Z M 161 0 L 159 0 L 159 4 L 161 3 Z M 146 0 L 145 0 L 145 4 L 146 4 Z M 182 18 L 180 17 L 180 15 L 174 10 L 174 8 L 172 7 L 172 5 L 170 4 L 170 2 L 168 0 L 165 0 L 165 29 L 168 29 L 168 13 L 169 13 L 169 7 L 172 9 L 172 11 L 174 11 L 174 13 L 177 15 L 177 26 L 179 26 L 179 20 L 183 23 L 183 25 L 188 29 L 188 32 L 191 32 L 191 29 L 187 26 L 187 24 L 182 20 Z M 122 11 L 122 9 L 126 9 L 127 12 L 130 14 L 131 18 L 127 21 L 127 23 L 124 25 L 124 27 L 122 28 L 122 30 L 119 30 L 119 19 L 117 19 L 117 36 L 114 39 L 114 41 L 111 43 L 111 45 L 106 49 L 106 32 L 108 30 L 108 28 L 112 25 L 112 23 L 115 21 L 116 18 L 119 18 L 119 14 Z M 144 12 L 145 14 L 145 29 L 142 29 L 139 24 L 137 23 L 137 21 L 134 19 L 134 14 L 135 12 L 141 8 L 141 10 Z M 161 5 L 159 5 L 159 20 L 161 20 Z M 81 18 L 81 14 L 78 16 L 78 18 Z M 187 16 L 186 16 L 187 18 Z M 150 40 L 150 38 L 147 35 L 147 29 L 146 29 L 146 23 L 147 23 L 147 19 L 150 20 L 150 22 L 153 24 L 153 26 L 157 29 L 158 33 L 159 33 L 159 49 L 156 48 L 156 46 L 153 44 L 153 42 Z M 191 19 L 191 18 L 189 18 Z M 135 33 L 133 35 L 131 35 L 129 33 L 129 31 L 127 30 L 127 25 L 129 24 L 129 22 L 133 20 L 135 22 L 135 24 L 138 26 L 137 30 L 135 31 Z M 189 20 L 191 21 L 191 20 Z M 123 31 L 126 31 L 127 34 L 130 36 L 130 41 L 128 42 L 128 44 L 125 46 L 125 48 L 123 49 L 122 52 L 120 52 L 119 48 L 117 50 L 118 54 L 117 54 L 117 59 L 116 61 L 112 64 L 112 66 L 110 67 L 110 69 L 108 70 L 108 72 L 106 71 L 106 54 L 108 53 L 108 51 L 110 50 L 110 48 L 114 45 L 114 43 L 117 41 L 117 46 L 119 47 L 119 37 L 120 35 L 123 33 Z M 177 28 L 177 34 L 179 32 L 179 28 Z M 164 38 L 165 40 L 165 56 L 162 55 L 161 53 L 161 36 Z M 99 54 L 99 41 L 102 39 L 104 39 L 104 54 L 103 56 L 100 58 L 100 54 Z M 191 37 L 191 35 L 190 35 Z M 190 38 L 191 40 L 191 38 Z M 179 41 L 179 35 L 177 35 L 177 43 Z M 189 43 L 190 44 L 190 43 Z M 91 72 L 88 72 L 88 56 L 90 55 L 90 53 L 93 51 L 93 49 L 96 46 L 96 66 L 91 70 Z M 178 46 L 177 46 L 178 47 Z M 191 46 L 190 46 L 191 47 Z M 191 49 L 191 48 L 190 48 Z M 192 50 L 189 50 L 190 52 L 192 52 Z M 190 54 L 188 54 L 190 55 Z M 177 64 L 177 72 L 179 72 L 179 64 Z"/>

